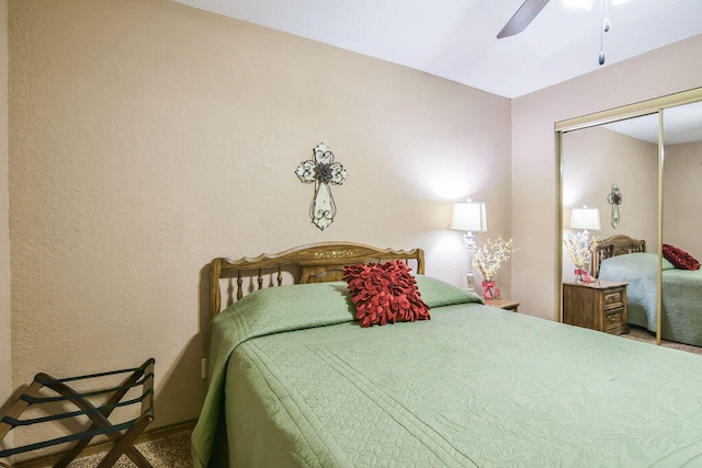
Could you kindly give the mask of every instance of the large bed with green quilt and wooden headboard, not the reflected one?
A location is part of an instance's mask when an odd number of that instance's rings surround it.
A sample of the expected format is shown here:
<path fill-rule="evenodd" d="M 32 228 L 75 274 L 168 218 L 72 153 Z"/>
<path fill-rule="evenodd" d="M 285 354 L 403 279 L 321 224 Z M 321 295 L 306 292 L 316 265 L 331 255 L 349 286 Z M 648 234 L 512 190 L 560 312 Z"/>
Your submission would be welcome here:
<path fill-rule="evenodd" d="M 423 261 L 353 243 L 213 260 L 195 466 L 702 459 L 701 356 L 486 306 Z M 361 327 L 342 271 L 362 262 L 409 265 L 429 320 Z"/>

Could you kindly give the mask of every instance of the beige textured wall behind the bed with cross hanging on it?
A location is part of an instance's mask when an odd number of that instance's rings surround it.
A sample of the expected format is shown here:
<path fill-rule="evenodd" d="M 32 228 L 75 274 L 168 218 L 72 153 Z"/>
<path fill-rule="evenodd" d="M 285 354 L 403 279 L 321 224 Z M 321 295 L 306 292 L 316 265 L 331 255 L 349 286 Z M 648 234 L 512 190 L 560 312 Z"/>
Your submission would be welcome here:
<path fill-rule="evenodd" d="M 451 202 L 510 235 L 507 99 L 168 0 L 9 5 L 14 387 L 154 356 L 157 423 L 194 419 L 212 258 L 422 247 L 462 285 Z M 349 172 L 324 232 L 319 141 Z"/>

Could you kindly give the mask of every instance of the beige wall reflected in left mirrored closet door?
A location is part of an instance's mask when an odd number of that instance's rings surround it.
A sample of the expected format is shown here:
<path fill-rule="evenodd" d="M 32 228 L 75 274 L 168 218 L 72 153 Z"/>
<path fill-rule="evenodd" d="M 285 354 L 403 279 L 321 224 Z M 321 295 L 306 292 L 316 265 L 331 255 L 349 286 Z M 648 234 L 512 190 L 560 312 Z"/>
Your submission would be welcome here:
<path fill-rule="evenodd" d="M 612 184 L 622 192 L 620 222 L 612 227 L 607 197 Z M 618 134 L 603 127 L 585 128 L 563 136 L 564 232 L 570 209 L 588 205 L 600 209 L 602 229 L 592 236 L 607 239 L 625 233 L 658 242 L 658 145 Z M 563 279 L 573 281 L 574 265 L 563 254 Z"/>

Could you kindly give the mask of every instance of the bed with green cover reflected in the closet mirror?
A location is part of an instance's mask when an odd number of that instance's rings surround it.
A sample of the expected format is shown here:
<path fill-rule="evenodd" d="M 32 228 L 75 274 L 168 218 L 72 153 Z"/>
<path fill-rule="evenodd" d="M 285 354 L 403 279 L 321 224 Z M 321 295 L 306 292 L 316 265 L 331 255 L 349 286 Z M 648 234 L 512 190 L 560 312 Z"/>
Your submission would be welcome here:
<path fill-rule="evenodd" d="M 660 338 L 702 346 L 702 271 L 661 262 Z M 656 332 L 658 255 L 646 252 L 643 240 L 612 236 L 595 250 L 595 273 L 601 279 L 629 283 L 629 323 Z"/>

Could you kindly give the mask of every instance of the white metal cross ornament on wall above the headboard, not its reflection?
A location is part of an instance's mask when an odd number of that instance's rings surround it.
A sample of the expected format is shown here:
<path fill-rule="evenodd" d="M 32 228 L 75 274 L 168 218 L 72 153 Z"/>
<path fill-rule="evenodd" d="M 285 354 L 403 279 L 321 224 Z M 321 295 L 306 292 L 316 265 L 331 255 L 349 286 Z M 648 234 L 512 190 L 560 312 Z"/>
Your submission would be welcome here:
<path fill-rule="evenodd" d="M 347 170 L 339 162 L 333 162 L 333 153 L 327 145 L 320 142 L 313 149 L 313 159 L 301 162 L 295 173 L 301 182 L 315 184 L 309 216 L 319 229 L 325 230 L 337 215 L 329 185 L 341 185 L 349 176 Z"/>

